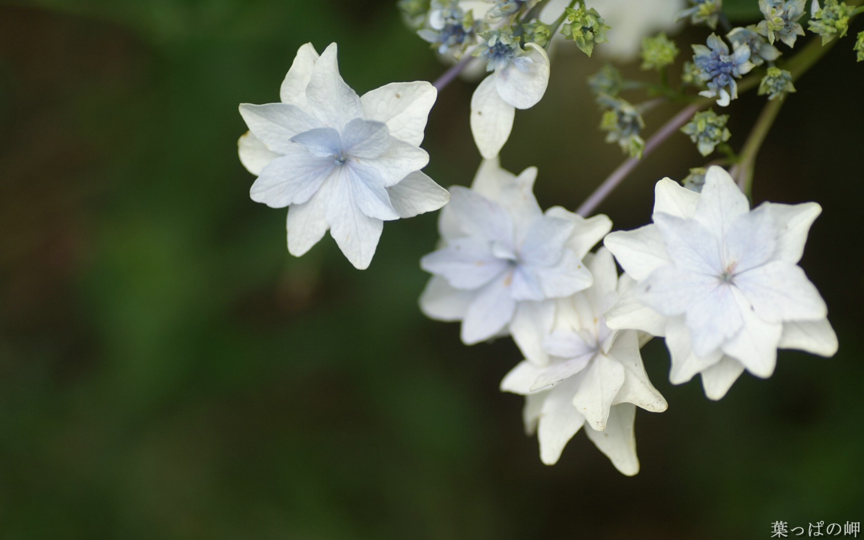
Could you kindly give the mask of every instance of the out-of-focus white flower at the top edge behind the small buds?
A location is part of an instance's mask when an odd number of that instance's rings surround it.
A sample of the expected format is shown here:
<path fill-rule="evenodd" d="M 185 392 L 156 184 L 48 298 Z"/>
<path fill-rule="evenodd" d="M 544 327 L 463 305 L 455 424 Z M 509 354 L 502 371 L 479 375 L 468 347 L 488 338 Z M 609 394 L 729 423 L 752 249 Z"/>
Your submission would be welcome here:
<path fill-rule="evenodd" d="M 544 4 L 540 19 L 548 24 L 563 13 L 569 0 L 546 0 Z M 675 23 L 675 16 L 683 9 L 684 2 L 683 0 L 589 0 L 586 6 L 599 11 L 604 21 L 612 27 L 607 31 L 609 42 L 597 47 L 597 53 L 615 60 L 629 61 L 638 56 L 642 48 L 642 39 L 646 36 L 680 28 L 680 25 Z M 556 35 L 556 37 L 561 39 L 563 36 Z"/>

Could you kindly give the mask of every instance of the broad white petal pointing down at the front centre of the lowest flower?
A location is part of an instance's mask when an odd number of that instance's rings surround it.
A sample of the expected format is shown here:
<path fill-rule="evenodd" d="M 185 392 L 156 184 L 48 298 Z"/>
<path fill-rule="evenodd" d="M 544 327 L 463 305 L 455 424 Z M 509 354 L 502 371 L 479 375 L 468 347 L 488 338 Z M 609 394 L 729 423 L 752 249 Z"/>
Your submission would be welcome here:
<path fill-rule="evenodd" d="M 621 385 L 624 384 L 624 366 L 598 354 L 585 373 L 579 390 L 573 397 L 573 406 L 593 429 L 606 429 L 609 407 Z"/>

